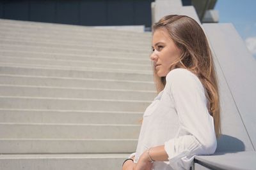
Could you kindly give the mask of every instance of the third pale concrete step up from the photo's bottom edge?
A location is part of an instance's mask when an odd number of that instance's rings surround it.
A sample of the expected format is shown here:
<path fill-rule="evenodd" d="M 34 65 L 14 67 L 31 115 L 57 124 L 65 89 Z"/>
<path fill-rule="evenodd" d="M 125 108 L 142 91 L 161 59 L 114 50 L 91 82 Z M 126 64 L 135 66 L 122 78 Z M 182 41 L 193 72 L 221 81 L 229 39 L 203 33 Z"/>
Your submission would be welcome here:
<path fill-rule="evenodd" d="M 0 123 L 1 139 L 138 139 L 140 125 Z"/>

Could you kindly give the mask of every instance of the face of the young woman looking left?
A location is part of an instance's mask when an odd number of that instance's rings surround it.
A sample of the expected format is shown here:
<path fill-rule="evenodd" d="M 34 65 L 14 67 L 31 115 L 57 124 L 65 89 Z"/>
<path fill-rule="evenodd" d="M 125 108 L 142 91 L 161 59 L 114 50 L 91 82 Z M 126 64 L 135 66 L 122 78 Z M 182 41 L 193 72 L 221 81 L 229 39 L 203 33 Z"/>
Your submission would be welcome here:
<path fill-rule="evenodd" d="M 173 61 L 179 59 L 180 50 L 170 38 L 166 29 L 157 29 L 152 38 L 152 54 L 150 59 L 159 77 L 166 76 Z"/>

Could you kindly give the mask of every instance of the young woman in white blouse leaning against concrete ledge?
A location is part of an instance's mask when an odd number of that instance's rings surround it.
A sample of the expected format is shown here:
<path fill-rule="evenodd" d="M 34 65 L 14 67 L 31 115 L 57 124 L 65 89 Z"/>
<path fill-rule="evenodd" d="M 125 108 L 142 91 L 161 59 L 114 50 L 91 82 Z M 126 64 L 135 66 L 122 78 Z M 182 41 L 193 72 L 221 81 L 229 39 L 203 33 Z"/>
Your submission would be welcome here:
<path fill-rule="evenodd" d="M 189 169 L 195 155 L 215 152 L 221 134 L 218 83 L 204 31 L 184 15 L 161 18 L 153 25 L 150 59 L 158 95 L 123 170 Z"/>

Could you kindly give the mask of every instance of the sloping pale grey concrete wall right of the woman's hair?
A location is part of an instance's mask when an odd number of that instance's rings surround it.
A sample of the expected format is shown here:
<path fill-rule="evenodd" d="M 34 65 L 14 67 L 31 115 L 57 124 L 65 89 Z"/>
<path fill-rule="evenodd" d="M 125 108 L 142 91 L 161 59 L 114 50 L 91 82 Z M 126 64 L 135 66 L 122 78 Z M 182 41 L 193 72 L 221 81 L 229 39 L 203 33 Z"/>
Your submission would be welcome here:
<path fill-rule="evenodd" d="M 242 134 L 248 136 L 250 143 L 244 142 L 244 145 L 251 148 L 250 150 L 255 150 L 256 61 L 232 24 L 204 24 L 204 28 L 214 49 L 216 62 L 221 67 L 219 73 L 223 74 L 222 82 L 227 83 L 228 89 L 223 91 L 222 95 L 231 94 L 230 99 L 222 103 L 222 115 L 227 117 L 223 121 L 223 129 L 225 131 L 227 127 L 228 132 L 232 133 L 245 129 Z M 225 106 L 230 101 L 233 101 L 232 108 L 236 110 L 238 117 L 227 116 L 229 110 L 226 110 Z M 235 118 L 243 123 L 240 128 L 235 125 Z"/>

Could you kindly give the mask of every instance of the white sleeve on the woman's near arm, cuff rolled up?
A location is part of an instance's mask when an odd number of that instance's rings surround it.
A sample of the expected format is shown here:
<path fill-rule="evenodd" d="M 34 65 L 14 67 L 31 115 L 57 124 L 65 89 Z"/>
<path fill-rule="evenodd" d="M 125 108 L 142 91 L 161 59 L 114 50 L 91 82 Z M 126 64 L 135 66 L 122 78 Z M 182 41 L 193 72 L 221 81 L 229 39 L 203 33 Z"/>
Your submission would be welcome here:
<path fill-rule="evenodd" d="M 209 155 L 216 150 L 214 122 L 207 110 L 207 99 L 200 80 L 186 69 L 173 69 L 166 76 L 175 110 L 179 132 L 164 143 L 170 166 L 189 169 L 195 155 Z"/>

